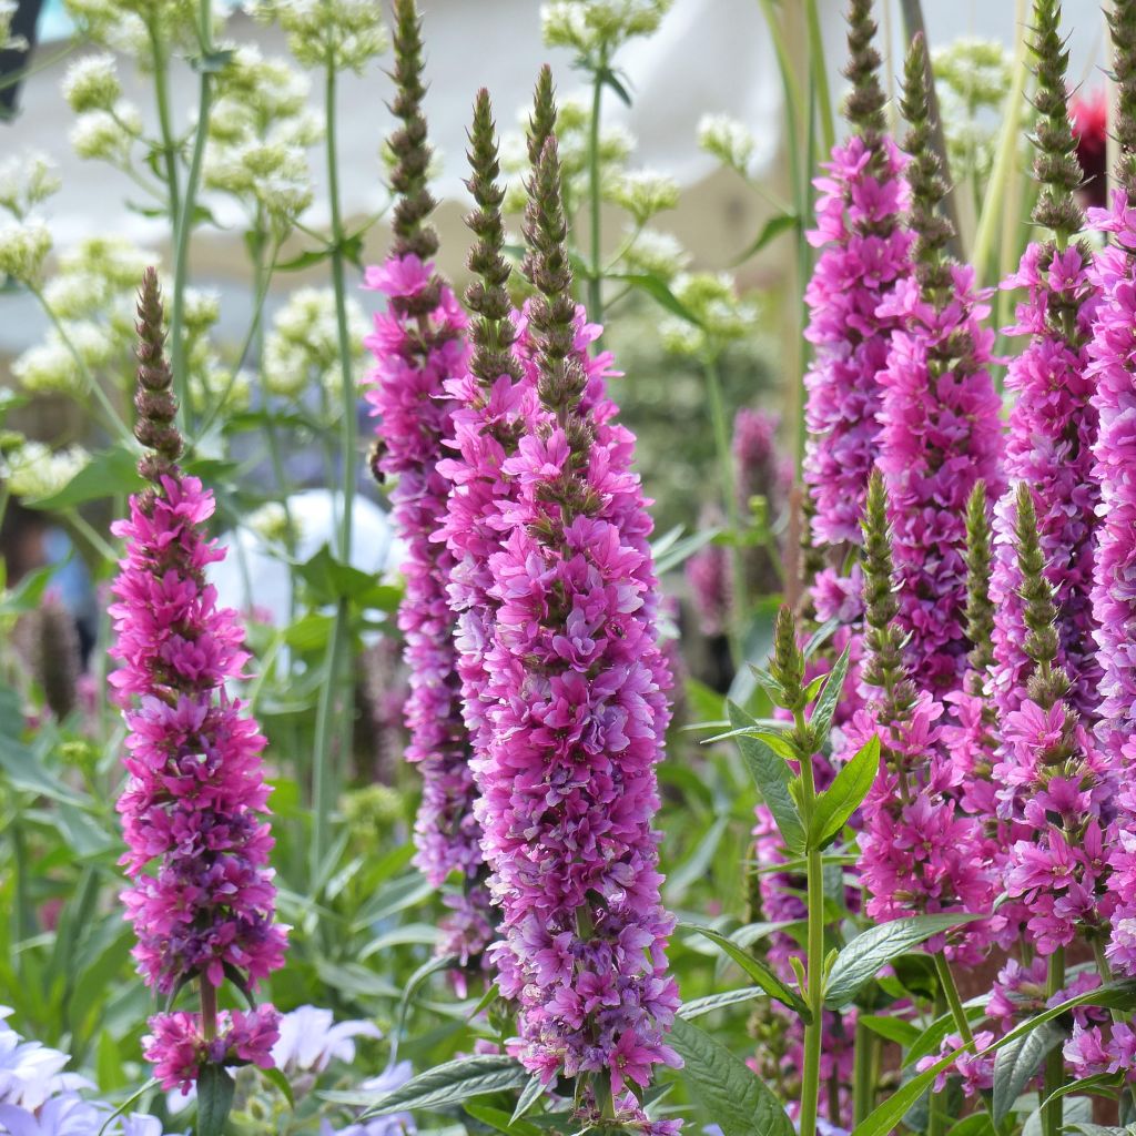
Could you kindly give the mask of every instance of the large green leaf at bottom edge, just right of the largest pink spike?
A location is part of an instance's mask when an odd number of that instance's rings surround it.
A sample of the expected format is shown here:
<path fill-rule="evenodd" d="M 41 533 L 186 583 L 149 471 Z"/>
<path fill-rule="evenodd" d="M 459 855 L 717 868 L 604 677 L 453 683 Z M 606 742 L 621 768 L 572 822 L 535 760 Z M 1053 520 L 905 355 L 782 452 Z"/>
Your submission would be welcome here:
<path fill-rule="evenodd" d="M 676 1018 L 670 1044 L 682 1076 L 722 1136 L 793 1136 L 793 1122 L 766 1083 L 720 1042 Z"/>

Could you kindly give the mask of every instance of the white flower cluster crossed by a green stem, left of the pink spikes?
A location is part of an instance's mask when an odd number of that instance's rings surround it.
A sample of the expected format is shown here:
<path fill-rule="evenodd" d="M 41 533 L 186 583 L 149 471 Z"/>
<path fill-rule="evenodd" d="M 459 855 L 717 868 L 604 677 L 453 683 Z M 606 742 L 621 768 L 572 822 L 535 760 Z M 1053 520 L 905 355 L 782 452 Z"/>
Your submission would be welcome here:
<path fill-rule="evenodd" d="M 367 317 L 348 301 L 348 339 L 358 385 L 364 375 Z M 299 399 L 321 385 L 332 407 L 340 406 L 340 341 L 335 293 L 331 289 L 298 289 L 273 319 L 265 340 L 262 382 L 269 394 Z"/>

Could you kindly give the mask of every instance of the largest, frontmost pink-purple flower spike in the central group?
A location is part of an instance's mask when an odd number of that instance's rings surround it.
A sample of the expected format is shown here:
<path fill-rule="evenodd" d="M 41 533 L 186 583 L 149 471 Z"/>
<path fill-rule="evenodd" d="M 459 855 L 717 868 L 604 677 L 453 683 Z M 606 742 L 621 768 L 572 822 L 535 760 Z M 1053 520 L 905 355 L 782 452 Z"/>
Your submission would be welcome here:
<path fill-rule="evenodd" d="M 584 1077 L 580 1109 L 596 1122 L 642 1125 L 629 1089 L 678 1063 L 666 1043 L 678 1004 L 665 954 L 674 920 L 651 830 L 669 685 L 651 523 L 630 471 L 634 440 L 576 342 L 553 137 L 529 190 L 541 415 L 503 466 L 517 496 L 490 562 L 495 705 L 479 768 L 502 912 L 494 954 L 502 993 L 518 1003 L 526 1068 L 545 1084 Z"/>

